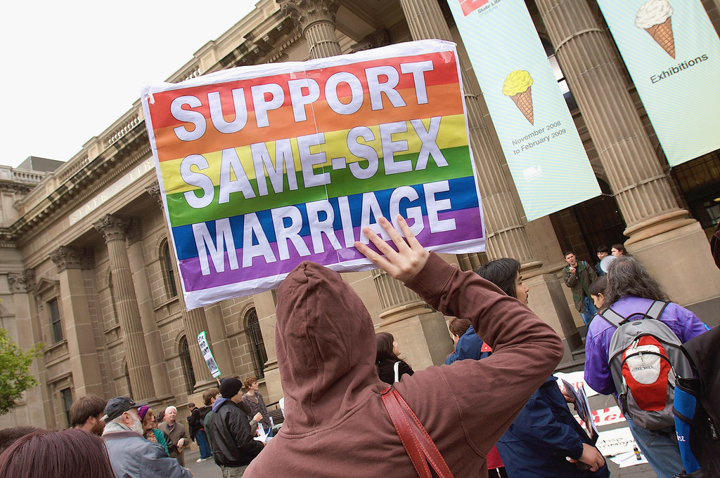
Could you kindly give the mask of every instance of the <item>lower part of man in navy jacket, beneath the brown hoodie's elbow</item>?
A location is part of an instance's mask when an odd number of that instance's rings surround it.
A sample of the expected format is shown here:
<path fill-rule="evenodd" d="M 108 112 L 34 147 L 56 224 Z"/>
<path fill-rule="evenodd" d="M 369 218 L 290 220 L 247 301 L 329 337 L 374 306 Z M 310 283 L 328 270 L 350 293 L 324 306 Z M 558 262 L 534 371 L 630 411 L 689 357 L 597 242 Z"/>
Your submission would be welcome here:
<path fill-rule="evenodd" d="M 552 375 L 530 397 L 500 441 L 508 476 L 513 478 L 606 478 L 600 451 L 567 408 Z"/>

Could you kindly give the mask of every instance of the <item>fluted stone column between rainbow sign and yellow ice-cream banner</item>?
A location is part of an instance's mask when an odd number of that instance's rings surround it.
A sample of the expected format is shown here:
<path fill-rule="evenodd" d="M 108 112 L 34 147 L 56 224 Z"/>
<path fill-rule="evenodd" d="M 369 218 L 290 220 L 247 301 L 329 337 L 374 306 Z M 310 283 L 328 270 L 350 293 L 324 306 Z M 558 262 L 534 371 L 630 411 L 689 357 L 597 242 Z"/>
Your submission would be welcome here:
<path fill-rule="evenodd" d="M 437 0 L 400 0 L 413 40 L 438 38 L 454 41 Z M 522 265 L 522 275 L 530 288 L 530 307 L 564 339 L 568 351 L 582 346 L 575 321 L 564 301 L 557 277 L 541 270 L 542 262 L 534 257 L 521 213 L 516 208 L 515 193 L 503 173 L 503 158 L 492 145 L 490 131 L 482 119 L 487 109 L 482 93 L 472 91 L 473 83 L 467 65 L 462 65 L 462 83 L 470 131 L 470 145 L 478 170 L 478 186 L 487 232 L 487 258 L 512 257 Z M 472 72 L 472 70 L 469 70 Z M 472 257 L 475 255 L 476 257 Z M 487 262 L 482 254 L 463 254 L 459 261 L 464 270 Z M 569 355 L 568 355 L 569 356 Z"/>

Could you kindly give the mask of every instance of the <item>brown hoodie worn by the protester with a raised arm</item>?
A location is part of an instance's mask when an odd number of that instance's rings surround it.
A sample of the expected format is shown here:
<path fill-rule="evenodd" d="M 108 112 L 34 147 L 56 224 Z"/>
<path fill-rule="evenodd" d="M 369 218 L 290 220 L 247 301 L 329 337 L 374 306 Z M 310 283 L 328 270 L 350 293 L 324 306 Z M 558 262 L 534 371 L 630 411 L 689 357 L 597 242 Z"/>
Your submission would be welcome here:
<path fill-rule="evenodd" d="M 456 478 L 487 476 L 485 455 L 562 357 L 562 342 L 526 305 L 436 254 L 405 285 L 448 316 L 469 318 L 492 346 L 403 377 L 395 388 Z M 244 476 L 416 477 L 382 405 L 372 319 L 337 272 L 303 262 L 278 292 L 275 331 L 285 393 L 279 434 Z"/>

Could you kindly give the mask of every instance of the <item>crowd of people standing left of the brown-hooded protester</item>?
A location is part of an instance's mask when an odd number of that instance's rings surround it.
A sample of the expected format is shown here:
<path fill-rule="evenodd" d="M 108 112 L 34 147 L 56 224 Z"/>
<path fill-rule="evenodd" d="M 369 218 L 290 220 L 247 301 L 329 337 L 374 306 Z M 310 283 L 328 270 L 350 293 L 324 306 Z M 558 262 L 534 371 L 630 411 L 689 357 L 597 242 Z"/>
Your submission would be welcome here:
<path fill-rule="evenodd" d="M 239 477 L 272 436 L 256 377 L 247 377 L 244 387 L 243 394 L 243 382 L 228 377 L 220 388 L 206 390 L 203 408 L 187 404 L 187 427 L 176 420 L 172 405 L 155 415 L 148 403 L 130 397 L 107 402 L 96 395 L 80 397 L 69 410 L 67 430 L 1 429 L 0 477 L 190 478 L 185 451 L 191 441 L 198 444 L 198 462 L 212 456 L 223 477 Z M 233 406 L 222 407 L 225 402 Z M 265 423 L 269 429 L 263 429 Z M 258 435 L 264 441 L 257 441 Z M 243 454 L 243 447 L 252 451 Z"/>

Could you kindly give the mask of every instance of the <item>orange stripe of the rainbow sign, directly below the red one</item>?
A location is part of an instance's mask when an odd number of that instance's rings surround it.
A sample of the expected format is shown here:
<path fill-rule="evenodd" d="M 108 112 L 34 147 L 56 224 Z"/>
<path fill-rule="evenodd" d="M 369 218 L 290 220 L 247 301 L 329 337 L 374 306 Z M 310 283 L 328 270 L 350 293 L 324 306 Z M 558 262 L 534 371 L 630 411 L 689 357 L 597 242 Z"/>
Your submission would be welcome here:
<path fill-rule="evenodd" d="M 402 92 L 401 92 L 402 93 Z M 385 101 L 387 105 L 387 101 Z M 315 114 L 317 126 L 311 114 Z M 355 114 L 338 115 L 325 102 L 315 103 L 312 111 L 308 109 L 307 121 L 296 123 L 292 115 L 292 107 L 284 106 L 281 109 L 270 111 L 268 114 L 270 126 L 258 128 L 255 115 L 248 114 L 246 127 L 239 132 L 223 134 L 217 132 L 210 120 L 206 121 L 205 133 L 200 139 L 194 141 L 180 141 L 173 127 L 155 129 L 155 140 L 160 161 L 176 160 L 191 154 L 215 152 L 230 147 L 239 147 L 258 142 L 269 142 L 276 139 L 294 138 L 313 134 L 315 132 L 338 131 L 351 129 L 359 125 L 373 126 L 375 124 L 405 121 L 407 119 L 423 119 L 431 116 L 453 116 L 463 114 L 462 95 L 459 84 L 439 85 L 428 88 L 428 103 L 423 105 L 408 104 L 401 108 L 390 108 L 372 111 L 369 98 L 364 98 L 361 109 Z M 226 118 L 231 121 L 233 117 Z M 192 124 L 187 128 L 192 130 Z"/>

